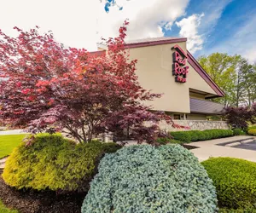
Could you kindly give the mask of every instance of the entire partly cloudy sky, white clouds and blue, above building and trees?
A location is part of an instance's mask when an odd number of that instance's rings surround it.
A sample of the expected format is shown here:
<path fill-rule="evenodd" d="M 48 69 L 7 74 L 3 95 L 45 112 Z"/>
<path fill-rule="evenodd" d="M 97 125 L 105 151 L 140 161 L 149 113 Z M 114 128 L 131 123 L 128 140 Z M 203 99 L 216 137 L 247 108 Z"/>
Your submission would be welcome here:
<path fill-rule="evenodd" d="M 187 37 L 195 57 L 222 52 L 256 62 L 256 0 L 116 0 L 107 9 L 106 1 L 0 0 L 0 29 L 15 37 L 14 26 L 40 26 L 67 47 L 94 51 L 129 19 L 128 40 Z"/>

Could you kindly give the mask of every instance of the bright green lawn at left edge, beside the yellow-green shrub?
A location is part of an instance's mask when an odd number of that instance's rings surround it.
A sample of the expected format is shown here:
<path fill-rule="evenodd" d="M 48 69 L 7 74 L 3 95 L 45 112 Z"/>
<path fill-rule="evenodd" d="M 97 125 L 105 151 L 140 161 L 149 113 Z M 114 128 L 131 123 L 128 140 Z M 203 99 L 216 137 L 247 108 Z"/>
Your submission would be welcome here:
<path fill-rule="evenodd" d="M 9 156 L 9 154 L 13 152 L 14 148 L 20 144 L 24 137 L 26 137 L 25 134 L 0 135 L 0 159 Z"/>

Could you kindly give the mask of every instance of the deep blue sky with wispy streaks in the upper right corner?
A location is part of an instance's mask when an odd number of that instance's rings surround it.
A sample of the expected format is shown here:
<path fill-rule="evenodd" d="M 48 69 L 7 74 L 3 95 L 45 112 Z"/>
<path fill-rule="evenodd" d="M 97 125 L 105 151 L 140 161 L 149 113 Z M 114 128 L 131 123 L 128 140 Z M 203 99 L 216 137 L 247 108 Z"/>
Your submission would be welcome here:
<path fill-rule="evenodd" d="M 184 17 L 193 14 L 204 14 L 198 26 L 198 34 L 204 42 L 202 49 L 195 51 L 195 56 L 209 55 L 216 51 L 227 52 L 230 55 L 241 54 L 244 43 L 251 42 L 250 49 L 256 51 L 255 0 L 191 0 Z M 182 19 L 183 17 L 178 18 L 177 22 Z M 247 27 L 252 22 L 252 28 Z M 178 36 L 179 32 L 180 28 L 174 25 L 172 30 L 165 31 L 165 36 Z M 247 44 L 246 46 L 248 47 Z M 250 60 L 255 56 L 250 55 Z"/>

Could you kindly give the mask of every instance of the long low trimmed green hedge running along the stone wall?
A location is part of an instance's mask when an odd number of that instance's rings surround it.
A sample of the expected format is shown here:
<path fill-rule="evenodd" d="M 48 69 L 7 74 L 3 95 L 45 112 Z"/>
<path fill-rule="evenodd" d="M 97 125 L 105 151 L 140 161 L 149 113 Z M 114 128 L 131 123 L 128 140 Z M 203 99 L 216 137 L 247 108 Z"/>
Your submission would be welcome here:
<path fill-rule="evenodd" d="M 170 132 L 175 140 L 189 143 L 191 141 L 206 141 L 234 135 L 232 130 L 191 130 Z"/>

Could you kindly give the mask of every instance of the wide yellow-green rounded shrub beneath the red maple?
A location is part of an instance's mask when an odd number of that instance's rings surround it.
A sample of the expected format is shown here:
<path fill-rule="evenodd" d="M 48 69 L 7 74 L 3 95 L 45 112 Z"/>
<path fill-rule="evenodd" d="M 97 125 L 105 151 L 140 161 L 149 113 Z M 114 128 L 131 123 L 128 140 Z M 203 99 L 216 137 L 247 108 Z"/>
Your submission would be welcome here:
<path fill-rule="evenodd" d="M 38 135 L 22 142 L 9 156 L 3 180 L 11 187 L 37 190 L 85 191 L 103 153 L 119 145 L 94 141 L 79 144 L 61 135 Z"/>

